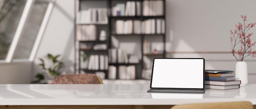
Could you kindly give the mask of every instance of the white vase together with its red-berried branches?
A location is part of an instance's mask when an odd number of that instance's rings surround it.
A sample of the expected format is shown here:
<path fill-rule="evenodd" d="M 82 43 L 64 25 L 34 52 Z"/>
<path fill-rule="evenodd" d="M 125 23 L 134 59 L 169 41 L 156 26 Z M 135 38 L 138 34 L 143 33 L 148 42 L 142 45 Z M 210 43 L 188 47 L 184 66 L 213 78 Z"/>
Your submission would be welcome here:
<path fill-rule="evenodd" d="M 247 56 L 256 57 L 256 50 L 252 50 L 256 41 L 252 41 L 251 36 L 253 33 L 249 33 L 249 30 L 255 26 L 256 23 L 245 24 L 247 21 L 246 15 L 241 15 L 243 23 L 238 22 L 234 31 L 230 30 L 231 52 L 238 61 L 236 63 L 236 78 L 241 80 L 240 86 L 245 86 L 248 83 L 247 63 L 244 58 Z"/>

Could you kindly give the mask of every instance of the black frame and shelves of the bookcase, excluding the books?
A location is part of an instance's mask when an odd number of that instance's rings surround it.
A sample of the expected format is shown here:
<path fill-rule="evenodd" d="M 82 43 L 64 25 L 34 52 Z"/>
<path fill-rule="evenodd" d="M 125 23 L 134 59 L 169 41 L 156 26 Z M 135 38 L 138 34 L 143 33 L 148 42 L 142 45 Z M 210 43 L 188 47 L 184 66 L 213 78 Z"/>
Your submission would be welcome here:
<path fill-rule="evenodd" d="M 166 51 L 165 51 L 165 44 L 166 44 L 166 19 L 165 19 L 165 5 L 163 6 L 163 13 L 164 15 L 156 15 L 156 16 L 144 16 L 143 15 L 143 1 L 144 0 L 79 0 L 79 2 L 86 2 L 86 1 L 90 1 L 90 2 L 94 2 L 94 1 L 106 1 L 106 8 L 109 10 L 109 15 L 108 15 L 108 23 L 107 24 L 102 24 L 102 23 L 95 23 L 93 25 L 97 25 L 97 27 L 102 27 L 102 26 L 106 26 L 106 28 L 108 28 L 108 32 L 107 32 L 107 40 L 106 41 L 100 41 L 100 40 L 96 40 L 96 41 L 76 41 L 76 43 L 79 43 L 79 45 L 81 43 L 93 43 L 93 44 L 107 44 L 107 50 L 93 50 L 92 48 L 78 48 L 76 50 L 79 51 L 79 73 L 81 70 L 85 71 L 85 72 L 98 72 L 98 71 L 101 71 L 101 72 L 105 72 L 106 73 L 106 79 L 108 79 L 108 70 L 88 70 L 88 69 L 81 69 L 80 68 L 80 52 L 90 52 L 90 53 L 97 53 L 97 52 L 104 52 L 106 53 L 106 55 L 108 55 L 108 50 L 112 48 L 112 41 L 111 41 L 111 36 L 115 36 L 115 37 L 128 37 L 128 36 L 135 36 L 137 37 L 137 39 L 139 40 L 139 42 L 141 43 L 138 47 L 140 47 L 140 51 L 141 51 L 141 58 L 139 60 L 139 63 L 108 63 L 108 65 L 114 65 L 117 67 L 117 71 L 116 71 L 116 74 L 117 74 L 117 77 L 119 75 L 118 73 L 118 66 L 119 65 L 135 65 L 136 67 L 136 79 L 142 79 L 141 77 L 141 73 L 142 73 L 142 70 L 144 69 L 144 56 L 146 57 L 166 57 Z M 138 16 L 138 15 L 135 15 L 135 16 L 112 16 L 112 11 L 111 11 L 111 8 L 113 7 L 113 5 L 115 5 L 116 3 L 124 3 L 124 2 L 127 2 L 127 1 L 135 1 L 135 2 L 140 2 L 140 10 L 141 10 L 141 14 Z M 151 0 L 151 1 L 154 1 L 154 0 Z M 165 4 L 165 0 L 163 0 L 163 4 Z M 97 5 L 95 5 L 97 6 Z M 83 7 L 83 5 L 79 4 L 79 11 L 81 9 L 85 9 Z M 116 20 L 140 20 L 140 21 L 145 21 L 145 20 L 148 20 L 148 19 L 163 19 L 165 20 L 165 33 L 161 33 L 161 34 L 134 34 L 134 32 L 132 31 L 132 34 L 116 34 L 115 33 L 115 21 Z M 75 25 L 87 25 L 87 24 L 75 24 Z M 76 29 L 76 27 L 75 27 Z M 99 33 L 99 31 L 97 32 Z M 164 51 L 161 52 L 161 53 L 158 53 L 158 54 L 153 54 L 153 53 L 148 53 L 148 54 L 144 54 L 144 40 L 146 40 L 148 37 L 159 37 L 159 38 L 162 38 L 162 43 L 164 44 Z M 75 56 L 76 57 L 76 56 Z M 108 56 L 109 57 L 109 56 Z M 153 60 L 152 60 L 153 61 Z M 75 64 L 76 66 L 77 64 Z M 76 68 L 76 67 L 75 67 Z M 119 79 L 119 78 L 117 78 Z"/>

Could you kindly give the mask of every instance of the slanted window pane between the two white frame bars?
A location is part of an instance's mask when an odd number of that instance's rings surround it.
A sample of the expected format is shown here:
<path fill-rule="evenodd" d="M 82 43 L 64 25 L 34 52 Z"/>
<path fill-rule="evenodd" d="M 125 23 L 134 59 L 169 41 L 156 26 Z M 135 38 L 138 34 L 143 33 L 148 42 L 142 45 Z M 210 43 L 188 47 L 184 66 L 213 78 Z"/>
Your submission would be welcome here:
<path fill-rule="evenodd" d="M 31 13 L 27 19 L 27 24 L 24 26 L 24 32 L 20 37 L 20 42 L 13 55 L 13 59 L 29 59 L 47 6 L 48 2 L 43 0 L 36 0 L 34 2 L 34 5 L 31 7 Z"/>

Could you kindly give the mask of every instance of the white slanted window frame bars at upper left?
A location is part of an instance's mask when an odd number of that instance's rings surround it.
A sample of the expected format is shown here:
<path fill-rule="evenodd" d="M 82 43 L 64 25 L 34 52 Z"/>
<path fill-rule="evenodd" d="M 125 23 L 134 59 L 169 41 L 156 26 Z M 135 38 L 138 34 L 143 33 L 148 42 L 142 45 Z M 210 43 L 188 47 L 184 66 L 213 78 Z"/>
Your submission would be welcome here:
<path fill-rule="evenodd" d="M 35 43 L 34 43 L 34 46 L 33 46 L 32 50 L 31 50 L 29 58 L 28 59 L 13 59 L 13 55 L 16 52 L 20 37 L 21 37 L 22 33 L 24 32 L 24 26 L 27 23 L 27 19 L 30 15 L 30 12 L 31 12 L 31 9 L 32 9 L 31 7 L 33 7 L 35 0 L 27 0 L 27 2 L 25 4 L 25 7 L 23 9 L 22 15 L 20 17 L 20 21 L 19 21 L 19 24 L 17 26 L 16 32 L 14 34 L 13 40 L 11 42 L 11 46 L 8 50 L 7 57 L 6 57 L 5 60 L 0 60 L 0 63 L 31 62 L 31 61 L 34 61 L 34 59 L 36 57 L 36 52 L 38 50 L 38 47 L 39 47 L 40 42 L 42 40 L 42 37 L 44 35 L 45 28 L 47 26 L 49 17 L 52 13 L 52 9 L 53 9 L 54 3 L 55 3 L 55 0 L 44 0 L 44 1 L 49 2 L 49 4 L 48 4 L 48 7 L 46 9 L 43 21 L 41 23 L 40 29 L 39 29 L 38 34 L 36 36 L 36 40 L 35 40 Z M 3 2 L 4 2 L 4 0 L 0 0 L 0 9 L 2 7 L 1 4 Z"/>

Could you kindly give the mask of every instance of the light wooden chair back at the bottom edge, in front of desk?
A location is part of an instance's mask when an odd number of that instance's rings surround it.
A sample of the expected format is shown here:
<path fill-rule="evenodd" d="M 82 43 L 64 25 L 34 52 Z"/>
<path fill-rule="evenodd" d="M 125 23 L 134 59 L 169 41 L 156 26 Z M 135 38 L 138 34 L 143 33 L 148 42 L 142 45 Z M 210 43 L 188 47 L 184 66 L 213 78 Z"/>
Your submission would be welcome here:
<path fill-rule="evenodd" d="M 249 101 L 213 102 L 175 105 L 171 109 L 253 109 L 253 105 Z"/>

